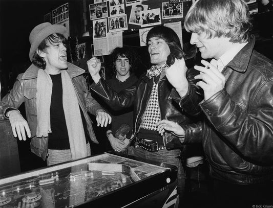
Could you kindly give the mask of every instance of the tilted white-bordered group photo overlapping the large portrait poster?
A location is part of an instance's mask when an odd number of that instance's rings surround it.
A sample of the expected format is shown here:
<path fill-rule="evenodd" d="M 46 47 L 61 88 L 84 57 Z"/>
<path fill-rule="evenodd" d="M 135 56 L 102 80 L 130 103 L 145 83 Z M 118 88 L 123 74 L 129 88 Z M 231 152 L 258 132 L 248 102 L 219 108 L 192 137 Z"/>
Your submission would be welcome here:
<path fill-rule="evenodd" d="M 150 9 L 140 12 L 141 27 L 161 25 L 160 9 Z"/>

